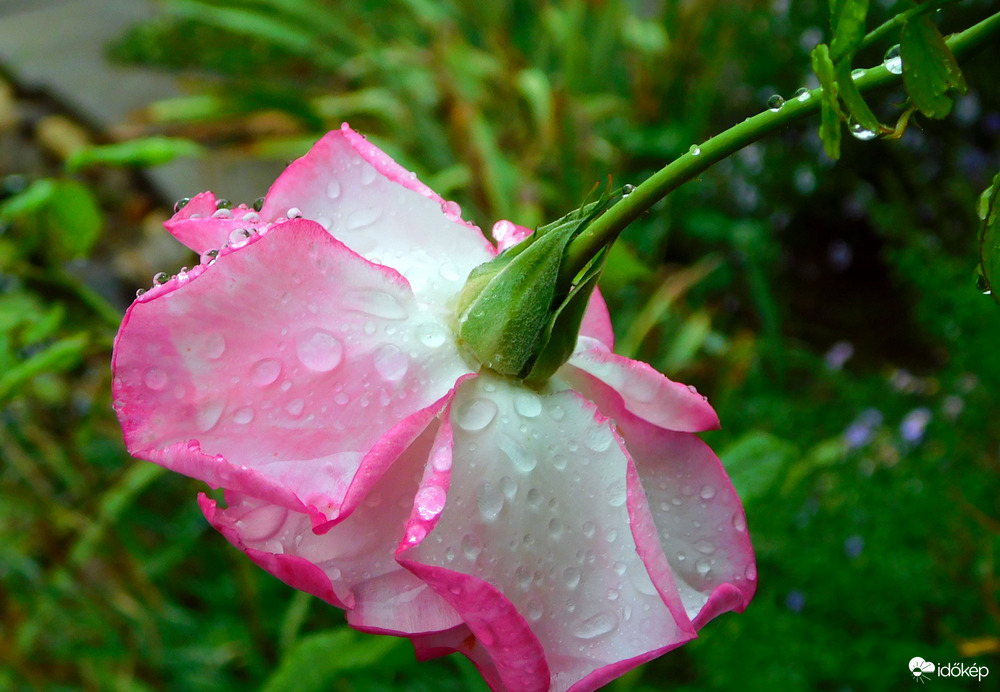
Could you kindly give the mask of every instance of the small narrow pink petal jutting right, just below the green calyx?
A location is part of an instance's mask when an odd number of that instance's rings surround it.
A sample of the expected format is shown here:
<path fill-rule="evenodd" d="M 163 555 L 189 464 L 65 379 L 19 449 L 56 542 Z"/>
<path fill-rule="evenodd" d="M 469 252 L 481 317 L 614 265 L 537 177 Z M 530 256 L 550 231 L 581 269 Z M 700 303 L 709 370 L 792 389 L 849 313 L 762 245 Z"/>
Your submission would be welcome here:
<path fill-rule="evenodd" d="M 629 412 L 668 430 L 700 432 L 719 427 L 715 410 L 693 387 L 673 382 L 649 365 L 611 353 L 586 338 L 558 374 L 605 413 L 606 401 L 622 402 Z"/>

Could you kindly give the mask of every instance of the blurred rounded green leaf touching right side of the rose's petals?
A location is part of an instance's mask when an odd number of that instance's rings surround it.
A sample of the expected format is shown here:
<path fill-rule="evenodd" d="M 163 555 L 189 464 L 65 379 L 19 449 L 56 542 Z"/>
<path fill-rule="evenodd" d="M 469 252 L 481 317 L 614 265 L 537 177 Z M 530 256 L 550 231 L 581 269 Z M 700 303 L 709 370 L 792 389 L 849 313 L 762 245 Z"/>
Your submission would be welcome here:
<path fill-rule="evenodd" d="M 761 431 L 741 436 L 719 453 L 736 493 L 744 503 L 765 495 L 783 469 L 799 455 L 788 440 Z"/>

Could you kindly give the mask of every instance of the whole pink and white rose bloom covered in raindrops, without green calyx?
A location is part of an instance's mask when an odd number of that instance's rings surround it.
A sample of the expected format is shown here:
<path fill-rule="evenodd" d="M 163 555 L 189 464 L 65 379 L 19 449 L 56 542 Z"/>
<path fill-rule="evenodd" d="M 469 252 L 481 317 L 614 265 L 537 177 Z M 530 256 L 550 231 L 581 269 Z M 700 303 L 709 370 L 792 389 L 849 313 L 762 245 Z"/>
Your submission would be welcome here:
<path fill-rule="evenodd" d="M 129 308 L 115 409 L 264 569 L 495 690 L 593 690 L 746 607 L 705 398 L 615 355 L 596 293 L 540 390 L 469 362 L 456 299 L 498 248 L 346 125 L 259 213 L 203 193 L 166 227 L 202 263 Z"/>

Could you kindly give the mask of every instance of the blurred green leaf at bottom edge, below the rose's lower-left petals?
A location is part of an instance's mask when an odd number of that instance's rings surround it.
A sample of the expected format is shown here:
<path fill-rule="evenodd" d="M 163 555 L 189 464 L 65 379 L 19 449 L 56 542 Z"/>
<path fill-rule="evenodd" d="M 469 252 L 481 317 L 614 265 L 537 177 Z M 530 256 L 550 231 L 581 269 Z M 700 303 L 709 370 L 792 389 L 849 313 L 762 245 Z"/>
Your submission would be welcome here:
<path fill-rule="evenodd" d="M 262 692 L 328 692 L 344 673 L 381 665 L 402 640 L 346 627 L 303 637 L 265 681 Z"/>

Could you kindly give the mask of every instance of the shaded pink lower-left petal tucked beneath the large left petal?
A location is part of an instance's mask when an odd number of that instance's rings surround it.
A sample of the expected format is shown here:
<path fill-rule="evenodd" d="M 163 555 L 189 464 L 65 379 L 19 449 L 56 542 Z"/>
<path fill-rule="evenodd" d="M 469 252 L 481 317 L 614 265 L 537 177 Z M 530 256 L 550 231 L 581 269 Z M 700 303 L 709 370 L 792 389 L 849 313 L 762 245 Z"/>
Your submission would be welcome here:
<path fill-rule="evenodd" d="M 394 559 L 436 429 L 422 428 L 364 501 L 323 532 L 305 513 L 239 493 L 226 494 L 227 509 L 212 503 L 206 517 L 282 581 L 346 608 L 352 627 L 400 635 L 456 627 L 462 620 L 455 610 Z M 393 435 L 413 437 L 405 428 Z"/>

